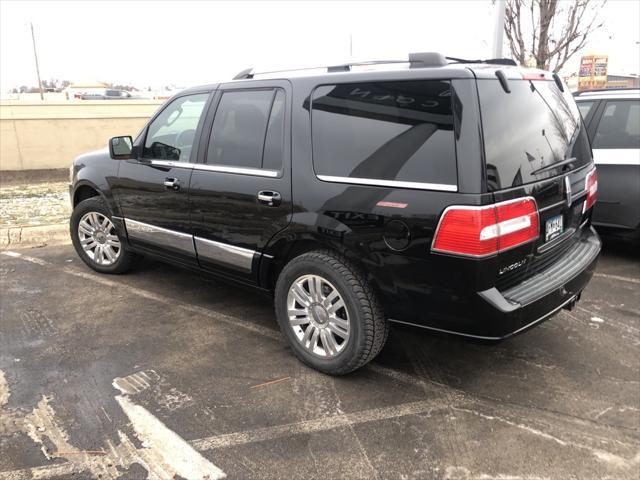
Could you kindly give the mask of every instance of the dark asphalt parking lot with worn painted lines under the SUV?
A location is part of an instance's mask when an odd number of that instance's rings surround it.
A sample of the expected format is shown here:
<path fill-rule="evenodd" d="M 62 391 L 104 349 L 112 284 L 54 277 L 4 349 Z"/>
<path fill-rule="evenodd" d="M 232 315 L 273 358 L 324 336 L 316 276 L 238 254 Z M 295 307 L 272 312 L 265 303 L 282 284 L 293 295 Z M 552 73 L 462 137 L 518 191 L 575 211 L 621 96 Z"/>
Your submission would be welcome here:
<path fill-rule="evenodd" d="M 300 364 L 268 299 L 71 246 L 0 255 L 0 479 L 637 479 L 640 257 L 498 345 L 392 328 L 369 366 Z"/>

